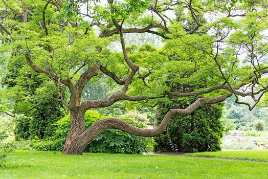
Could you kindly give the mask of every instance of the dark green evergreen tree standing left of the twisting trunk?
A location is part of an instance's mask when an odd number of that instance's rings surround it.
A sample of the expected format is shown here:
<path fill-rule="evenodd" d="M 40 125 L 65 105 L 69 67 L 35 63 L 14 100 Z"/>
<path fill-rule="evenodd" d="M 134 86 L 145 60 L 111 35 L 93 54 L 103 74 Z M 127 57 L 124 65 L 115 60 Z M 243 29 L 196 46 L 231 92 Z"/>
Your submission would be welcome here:
<path fill-rule="evenodd" d="M 51 99 L 51 96 L 38 96 L 41 86 L 46 86 L 47 77 L 33 72 L 24 60 L 13 58 L 2 70 L 2 85 L 13 105 L 13 117 L 16 117 L 16 140 L 28 140 L 51 137 L 55 126 L 52 124 L 62 118 L 66 108 L 62 103 Z M 51 95 L 60 94 L 58 90 Z M 35 95 L 33 95 L 35 94 Z M 66 94 L 64 95 L 66 96 Z"/>

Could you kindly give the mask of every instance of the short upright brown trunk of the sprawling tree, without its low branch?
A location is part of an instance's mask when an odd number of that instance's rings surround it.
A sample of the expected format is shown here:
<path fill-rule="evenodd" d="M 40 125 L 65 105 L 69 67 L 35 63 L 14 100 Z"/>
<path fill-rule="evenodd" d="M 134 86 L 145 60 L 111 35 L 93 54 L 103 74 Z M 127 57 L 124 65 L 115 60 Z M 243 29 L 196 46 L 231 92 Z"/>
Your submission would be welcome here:
<path fill-rule="evenodd" d="M 85 127 L 84 113 L 70 111 L 70 116 L 72 127 L 66 138 L 62 154 L 82 154 L 86 146 L 81 146 L 82 142 L 79 136 Z"/>

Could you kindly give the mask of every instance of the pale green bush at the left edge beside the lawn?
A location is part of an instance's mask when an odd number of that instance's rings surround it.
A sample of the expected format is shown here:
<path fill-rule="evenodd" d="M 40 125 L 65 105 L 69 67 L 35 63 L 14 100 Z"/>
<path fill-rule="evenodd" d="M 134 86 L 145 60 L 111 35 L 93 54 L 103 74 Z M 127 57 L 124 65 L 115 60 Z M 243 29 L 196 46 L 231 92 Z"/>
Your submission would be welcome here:
<path fill-rule="evenodd" d="M 9 138 L 12 130 L 13 122 L 0 116 L 0 167 L 5 166 L 8 154 L 14 150 L 13 141 Z"/>

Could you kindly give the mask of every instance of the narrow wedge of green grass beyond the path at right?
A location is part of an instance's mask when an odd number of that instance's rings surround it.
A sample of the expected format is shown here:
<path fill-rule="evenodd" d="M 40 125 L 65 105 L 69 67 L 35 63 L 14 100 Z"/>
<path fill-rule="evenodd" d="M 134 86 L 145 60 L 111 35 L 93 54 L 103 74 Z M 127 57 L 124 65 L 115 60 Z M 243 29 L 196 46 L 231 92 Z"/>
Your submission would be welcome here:
<path fill-rule="evenodd" d="M 185 153 L 185 156 L 199 156 L 205 158 L 239 159 L 268 162 L 268 150 L 228 150 L 218 152 Z"/>

